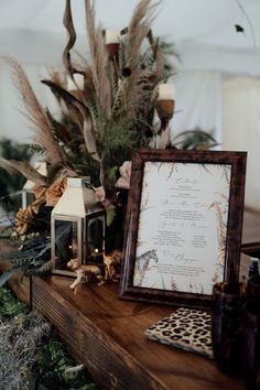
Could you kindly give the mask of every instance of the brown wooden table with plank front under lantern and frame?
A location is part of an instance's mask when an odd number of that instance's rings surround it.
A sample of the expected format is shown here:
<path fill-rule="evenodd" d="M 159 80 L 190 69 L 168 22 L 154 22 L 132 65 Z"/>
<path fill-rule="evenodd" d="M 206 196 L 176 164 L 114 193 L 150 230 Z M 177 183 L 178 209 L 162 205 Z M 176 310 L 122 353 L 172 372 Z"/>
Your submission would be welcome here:
<path fill-rule="evenodd" d="M 88 285 L 74 294 L 62 277 L 32 281 L 32 307 L 57 328 L 71 353 L 101 389 L 245 390 L 214 360 L 147 339 L 147 327 L 173 307 L 121 301 L 118 285 Z"/>

